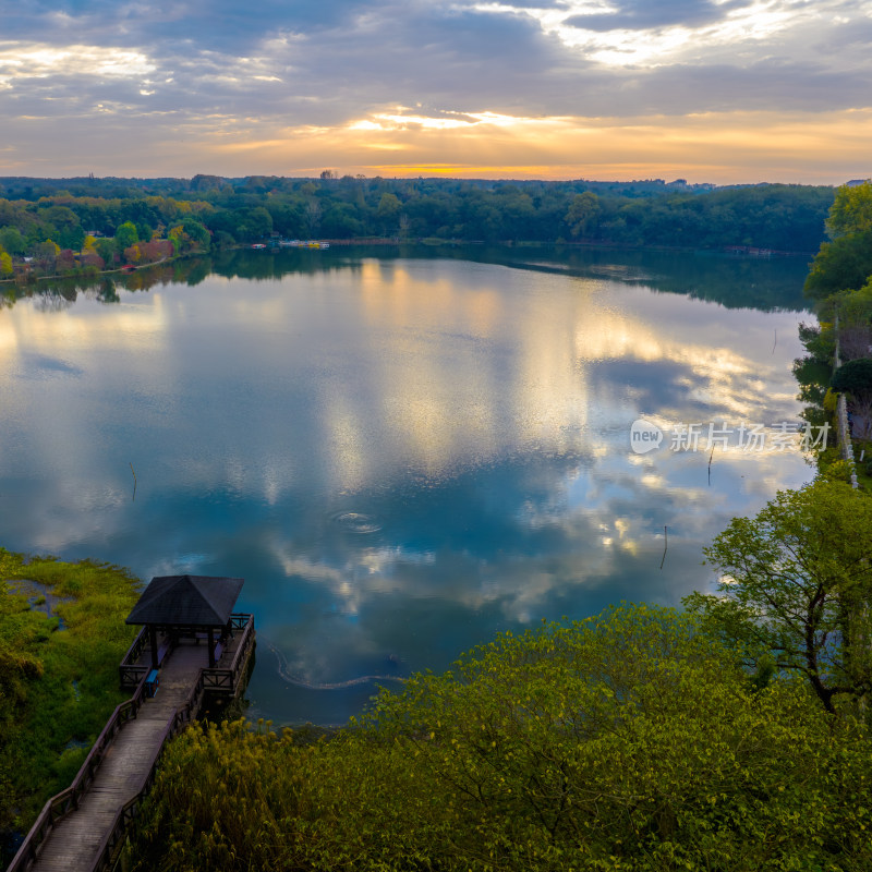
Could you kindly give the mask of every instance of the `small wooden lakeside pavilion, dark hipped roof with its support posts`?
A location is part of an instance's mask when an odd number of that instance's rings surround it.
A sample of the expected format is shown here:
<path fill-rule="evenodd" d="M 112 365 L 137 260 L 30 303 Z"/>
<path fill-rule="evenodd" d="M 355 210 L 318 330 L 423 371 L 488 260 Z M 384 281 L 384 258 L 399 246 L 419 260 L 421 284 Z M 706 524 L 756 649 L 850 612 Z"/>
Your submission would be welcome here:
<path fill-rule="evenodd" d="M 152 647 L 152 668 L 160 666 L 158 633 L 171 646 L 178 639 L 208 641 L 209 668 L 216 664 L 217 641 L 231 634 L 231 613 L 244 579 L 222 576 L 157 576 L 128 615 L 126 623 L 145 625 Z"/>

